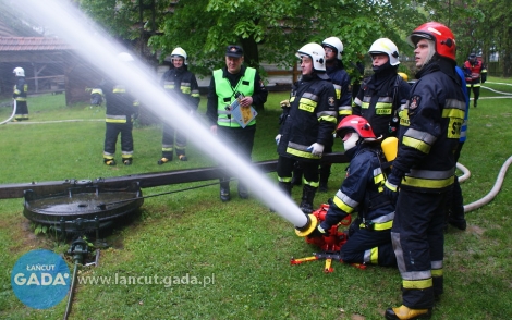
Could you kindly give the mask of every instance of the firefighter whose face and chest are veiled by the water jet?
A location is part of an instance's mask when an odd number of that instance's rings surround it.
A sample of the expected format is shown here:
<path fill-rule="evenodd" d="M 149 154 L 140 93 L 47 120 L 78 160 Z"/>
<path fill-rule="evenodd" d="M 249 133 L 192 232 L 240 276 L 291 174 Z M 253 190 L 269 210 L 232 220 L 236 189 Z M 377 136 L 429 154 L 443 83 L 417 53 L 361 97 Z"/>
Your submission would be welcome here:
<path fill-rule="evenodd" d="M 122 62 L 130 63 L 133 57 L 127 52 L 118 54 Z M 115 144 L 121 134 L 121 157 L 123 164 L 131 165 L 133 161 L 133 121 L 138 114 L 138 101 L 127 91 L 124 85 L 115 84 L 110 79 L 103 81 L 99 86 L 107 100 L 106 133 L 103 148 L 103 163 L 115 165 Z"/>

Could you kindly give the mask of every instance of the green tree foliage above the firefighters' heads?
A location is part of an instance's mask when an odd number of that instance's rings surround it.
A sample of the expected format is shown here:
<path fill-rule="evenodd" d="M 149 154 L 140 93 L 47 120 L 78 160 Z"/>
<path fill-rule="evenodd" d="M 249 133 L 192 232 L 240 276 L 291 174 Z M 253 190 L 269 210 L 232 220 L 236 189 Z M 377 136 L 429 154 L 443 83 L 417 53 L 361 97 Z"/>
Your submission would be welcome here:
<path fill-rule="evenodd" d="M 508 0 L 80 0 L 80 5 L 112 35 L 138 40 L 141 52 L 154 59 L 183 47 L 199 75 L 223 65 L 230 44 L 244 47 L 248 65 L 290 67 L 298 48 L 330 36 L 343 41 L 343 61 L 352 72 L 352 62 L 380 37 L 412 56 L 405 38 L 427 21 L 453 30 L 460 63 L 472 51 L 501 50 L 510 58 L 512 46 Z"/>

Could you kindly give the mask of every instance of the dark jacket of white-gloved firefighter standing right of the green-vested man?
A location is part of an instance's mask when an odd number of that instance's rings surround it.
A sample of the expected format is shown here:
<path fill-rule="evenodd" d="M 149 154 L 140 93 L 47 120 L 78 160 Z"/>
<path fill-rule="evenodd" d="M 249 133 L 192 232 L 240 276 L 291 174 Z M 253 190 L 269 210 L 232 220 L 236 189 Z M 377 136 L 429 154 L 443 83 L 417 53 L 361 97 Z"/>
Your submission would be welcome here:
<path fill-rule="evenodd" d="M 336 90 L 330 81 L 316 74 L 303 76 L 292 87 L 290 108 L 284 108 L 279 128 L 278 153 L 297 160 L 318 160 L 306 149 L 328 145 L 337 126 Z"/>

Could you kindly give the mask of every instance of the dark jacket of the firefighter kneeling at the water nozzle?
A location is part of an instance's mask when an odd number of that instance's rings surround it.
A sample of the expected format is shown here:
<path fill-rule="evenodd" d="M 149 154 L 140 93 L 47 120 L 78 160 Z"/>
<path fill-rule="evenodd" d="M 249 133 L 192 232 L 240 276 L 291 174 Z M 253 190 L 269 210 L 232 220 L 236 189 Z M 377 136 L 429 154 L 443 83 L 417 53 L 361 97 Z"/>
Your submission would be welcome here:
<path fill-rule="evenodd" d="M 355 153 L 355 156 L 354 156 Z M 376 231 L 390 230 L 394 206 L 383 195 L 386 182 L 381 163 L 386 162 L 378 146 L 361 144 L 345 152 L 353 157 L 341 188 L 330 202 L 321 227 L 336 225 L 358 209 L 361 227 Z"/>

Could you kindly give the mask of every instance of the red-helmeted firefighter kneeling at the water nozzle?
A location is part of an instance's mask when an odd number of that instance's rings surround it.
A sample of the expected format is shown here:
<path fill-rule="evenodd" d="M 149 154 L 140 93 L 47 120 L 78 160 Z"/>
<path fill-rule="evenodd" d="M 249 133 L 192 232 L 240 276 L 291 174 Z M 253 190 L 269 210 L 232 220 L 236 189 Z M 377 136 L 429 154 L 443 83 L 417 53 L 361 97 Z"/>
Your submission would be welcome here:
<path fill-rule="evenodd" d="M 394 205 L 383 194 L 386 158 L 368 121 L 359 115 L 344 118 L 337 130 L 350 159 L 346 176 L 329 200 L 326 219 L 309 236 L 328 236 L 331 226 L 357 211 L 349 229 L 349 239 L 341 247 L 348 263 L 397 266 L 391 244 Z"/>

